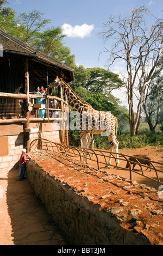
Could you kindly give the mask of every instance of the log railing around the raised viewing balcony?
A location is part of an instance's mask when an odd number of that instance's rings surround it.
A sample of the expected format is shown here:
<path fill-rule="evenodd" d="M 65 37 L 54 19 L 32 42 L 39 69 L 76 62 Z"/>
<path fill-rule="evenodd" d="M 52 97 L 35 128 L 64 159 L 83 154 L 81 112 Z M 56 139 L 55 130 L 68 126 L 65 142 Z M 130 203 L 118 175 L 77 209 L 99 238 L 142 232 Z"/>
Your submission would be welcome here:
<path fill-rule="evenodd" d="M 36 99 L 45 99 L 45 107 L 36 106 Z M 29 122 L 35 121 L 54 121 L 59 117 L 52 117 L 49 112 L 58 111 L 61 113 L 60 116 L 64 117 L 64 106 L 66 105 L 65 100 L 57 97 L 57 96 L 49 96 L 49 95 L 37 95 L 37 94 L 29 94 L 29 103 L 28 109 L 24 111 L 23 116 L 16 117 L 16 105 L 19 104 L 18 101 L 23 100 L 24 103 L 28 99 L 27 94 L 12 94 L 12 93 L 0 93 L 0 124 L 11 124 L 11 123 L 26 123 L 26 111 L 30 111 Z M 54 101 L 54 107 L 49 107 L 49 101 Z M 56 106 L 56 102 L 58 102 L 58 106 Z M 61 103 L 62 102 L 62 103 Z M 36 118 L 35 111 L 36 109 L 39 111 L 40 109 L 45 109 L 46 114 L 44 118 Z M 59 118 L 61 120 L 61 118 Z"/>

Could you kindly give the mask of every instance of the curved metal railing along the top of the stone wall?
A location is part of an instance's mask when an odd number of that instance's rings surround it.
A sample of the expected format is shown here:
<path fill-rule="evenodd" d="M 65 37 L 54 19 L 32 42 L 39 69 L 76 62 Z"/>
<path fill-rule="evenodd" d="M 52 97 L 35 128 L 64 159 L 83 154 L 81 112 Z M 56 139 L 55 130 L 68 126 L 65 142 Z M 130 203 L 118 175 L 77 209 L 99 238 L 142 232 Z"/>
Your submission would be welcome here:
<path fill-rule="evenodd" d="M 140 160 L 142 160 L 140 157 L 134 157 L 136 159 L 136 162 L 134 162 L 134 161 L 129 160 L 129 157 L 131 157 L 131 156 L 125 155 L 122 153 L 118 153 L 118 159 L 120 159 L 120 161 L 124 161 L 126 164 L 128 163 L 129 169 L 127 169 L 125 167 L 122 167 L 121 164 L 119 164 L 119 165 L 117 164 L 117 153 L 113 153 L 113 152 L 110 152 L 107 150 L 101 150 L 101 149 L 85 149 L 85 148 L 73 147 L 70 145 L 64 145 L 64 144 L 60 144 L 60 143 L 56 143 L 56 142 L 51 142 L 44 138 L 34 139 L 34 141 L 32 141 L 30 143 L 30 151 L 35 150 L 36 148 L 41 149 L 41 150 L 57 151 L 60 153 L 64 153 L 66 156 L 76 156 L 76 157 L 79 157 L 80 161 L 83 160 L 84 153 L 85 153 L 86 159 L 96 162 L 98 169 L 104 168 L 104 167 L 102 167 L 104 165 L 107 167 L 109 158 L 111 157 L 111 159 L 113 159 L 114 163 L 109 164 L 109 166 L 112 166 L 117 169 L 129 170 L 130 180 L 132 178 L 131 177 L 132 173 L 136 173 L 145 178 L 148 178 L 153 181 L 157 181 L 160 184 L 163 184 L 163 181 L 160 181 L 160 178 L 159 178 L 159 173 L 160 173 L 160 174 L 162 174 L 161 180 L 163 180 L 163 163 L 161 163 L 161 162 L 155 162 L 155 161 L 148 160 L 148 162 L 151 163 L 151 166 L 149 167 L 145 164 L 140 163 Z M 132 169 L 131 164 L 134 164 L 134 163 L 138 164 L 140 166 L 141 172 L 137 172 L 136 170 Z M 100 165 L 101 165 L 101 167 L 100 167 Z M 159 166 L 159 168 L 156 167 L 156 165 Z M 147 176 L 144 173 L 142 167 L 146 167 L 151 170 L 154 170 L 156 178 Z M 162 168 L 162 170 L 160 168 Z"/>

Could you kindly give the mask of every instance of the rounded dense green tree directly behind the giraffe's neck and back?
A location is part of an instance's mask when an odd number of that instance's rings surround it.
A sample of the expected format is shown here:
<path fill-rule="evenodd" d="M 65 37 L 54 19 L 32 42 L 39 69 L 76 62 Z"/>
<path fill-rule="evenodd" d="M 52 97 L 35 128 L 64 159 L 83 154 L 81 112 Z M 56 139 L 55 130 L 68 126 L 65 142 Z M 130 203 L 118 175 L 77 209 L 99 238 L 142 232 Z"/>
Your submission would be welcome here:
<path fill-rule="evenodd" d="M 85 69 L 80 65 L 74 69 L 74 80 L 70 86 L 82 100 L 90 103 L 93 108 L 114 112 L 118 99 L 111 94 L 111 91 L 120 88 L 122 84 L 118 75 L 112 72 L 101 68 Z"/>

